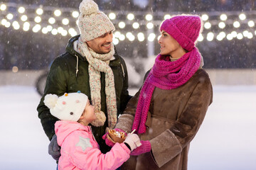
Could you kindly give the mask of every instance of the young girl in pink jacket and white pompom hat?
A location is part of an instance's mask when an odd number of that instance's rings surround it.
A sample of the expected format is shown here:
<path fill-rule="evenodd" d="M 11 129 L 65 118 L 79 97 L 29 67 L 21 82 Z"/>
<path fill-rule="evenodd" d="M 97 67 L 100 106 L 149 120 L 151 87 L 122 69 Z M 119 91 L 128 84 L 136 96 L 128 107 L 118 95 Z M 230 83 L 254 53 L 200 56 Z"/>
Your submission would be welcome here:
<path fill-rule="evenodd" d="M 95 120 L 94 106 L 85 94 L 70 93 L 58 97 L 48 94 L 44 103 L 50 113 L 60 119 L 55 123 L 55 135 L 60 145 L 58 169 L 117 169 L 139 147 L 138 135 L 128 134 L 123 143 L 102 154 L 89 126 Z"/>

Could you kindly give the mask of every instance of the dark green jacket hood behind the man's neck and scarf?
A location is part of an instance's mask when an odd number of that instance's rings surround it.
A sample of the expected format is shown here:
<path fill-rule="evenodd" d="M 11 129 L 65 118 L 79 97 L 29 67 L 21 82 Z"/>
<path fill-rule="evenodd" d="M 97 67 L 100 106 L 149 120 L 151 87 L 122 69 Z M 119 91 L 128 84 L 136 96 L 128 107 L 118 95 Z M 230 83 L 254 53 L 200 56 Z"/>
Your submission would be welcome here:
<path fill-rule="evenodd" d="M 85 57 L 82 57 L 82 55 L 80 55 L 79 52 L 77 52 L 77 51 L 74 50 L 74 42 L 75 42 L 76 40 L 78 40 L 79 37 L 80 37 L 80 35 L 75 35 L 73 38 L 70 38 L 70 40 L 68 40 L 68 45 L 66 46 L 66 51 L 67 51 L 68 53 L 70 53 L 70 55 L 73 55 L 74 57 L 75 57 L 75 56 L 78 56 L 78 58 L 79 58 L 80 60 L 87 62 L 87 60 L 86 60 Z M 114 60 L 111 60 L 111 61 L 110 61 L 110 67 L 119 64 L 119 62 L 120 62 L 119 59 L 120 59 L 120 57 L 119 57 L 119 55 L 118 55 L 118 53 L 117 53 L 117 49 L 116 49 L 116 47 L 114 46 Z"/>

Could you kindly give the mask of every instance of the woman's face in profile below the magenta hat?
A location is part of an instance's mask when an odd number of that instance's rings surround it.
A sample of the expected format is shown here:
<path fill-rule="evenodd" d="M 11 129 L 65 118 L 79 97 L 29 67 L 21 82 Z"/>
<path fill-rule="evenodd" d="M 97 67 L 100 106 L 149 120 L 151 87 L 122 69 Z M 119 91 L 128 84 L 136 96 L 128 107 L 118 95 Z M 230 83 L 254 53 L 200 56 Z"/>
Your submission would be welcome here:
<path fill-rule="evenodd" d="M 164 30 L 161 30 L 161 38 L 158 42 L 160 44 L 161 55 L 171 55 L 173 57 L 175 55 L 172 54 L 182 49 L 181 45 Z"/>

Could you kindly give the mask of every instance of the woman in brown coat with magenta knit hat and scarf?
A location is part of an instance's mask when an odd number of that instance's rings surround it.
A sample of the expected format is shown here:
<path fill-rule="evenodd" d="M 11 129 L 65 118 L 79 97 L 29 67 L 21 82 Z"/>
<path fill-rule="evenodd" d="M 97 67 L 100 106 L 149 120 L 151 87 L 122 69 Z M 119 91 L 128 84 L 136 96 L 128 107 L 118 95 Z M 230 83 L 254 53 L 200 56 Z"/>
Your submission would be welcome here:
<path fill-rule="evenodd" d="M 138 156 L 122 169 L 187 169 L 190 142 L 213 98 L 203 58 L 195 47 L 201 27 L 201 18 L 190 15 L 161 23 L 161 52 L 115 126 L 124 132 L 135 129 L 142 140 L 132 152 Z"/>

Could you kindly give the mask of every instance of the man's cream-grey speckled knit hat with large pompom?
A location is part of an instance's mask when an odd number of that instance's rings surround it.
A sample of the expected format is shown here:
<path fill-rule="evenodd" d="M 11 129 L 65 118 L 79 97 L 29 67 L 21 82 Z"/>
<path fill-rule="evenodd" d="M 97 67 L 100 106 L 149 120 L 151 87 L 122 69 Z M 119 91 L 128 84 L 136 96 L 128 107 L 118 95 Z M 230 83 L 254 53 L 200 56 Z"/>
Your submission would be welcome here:
<path fill-rule="evenodd" d="M 79 6 L 78 28 L 82 41 L 90 41 L 114 30 L 110 19 L 99 11 L 95 1 L 83 0 Z"/>

